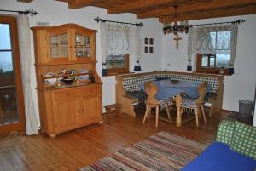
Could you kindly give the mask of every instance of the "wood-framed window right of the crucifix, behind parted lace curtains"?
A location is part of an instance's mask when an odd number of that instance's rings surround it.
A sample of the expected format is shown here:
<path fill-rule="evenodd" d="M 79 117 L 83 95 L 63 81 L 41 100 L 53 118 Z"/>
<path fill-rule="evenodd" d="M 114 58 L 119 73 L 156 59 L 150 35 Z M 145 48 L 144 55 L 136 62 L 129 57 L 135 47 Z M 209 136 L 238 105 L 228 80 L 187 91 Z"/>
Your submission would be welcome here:
<path fill-rule="evenodd" d="M 197 54 L 197 72 L 228 73 L 230 63 L 231 31 L 211 31 L 212 46 L 215 54 Z"/>

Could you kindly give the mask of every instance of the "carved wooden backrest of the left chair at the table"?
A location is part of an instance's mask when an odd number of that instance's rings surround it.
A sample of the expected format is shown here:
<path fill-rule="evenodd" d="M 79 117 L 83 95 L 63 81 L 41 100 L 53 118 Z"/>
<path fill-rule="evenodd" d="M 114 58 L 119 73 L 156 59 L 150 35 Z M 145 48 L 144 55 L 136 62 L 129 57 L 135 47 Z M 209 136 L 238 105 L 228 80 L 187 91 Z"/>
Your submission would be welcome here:
<path fill-rule="evenodd" d="M 146 82 L 144 83 L 144 90 L 148 95 L 147 103 L 148 104 L 158 104 L 158 100 L 154 97 L 158 92 L 158 87 L 154 83 Z"/>

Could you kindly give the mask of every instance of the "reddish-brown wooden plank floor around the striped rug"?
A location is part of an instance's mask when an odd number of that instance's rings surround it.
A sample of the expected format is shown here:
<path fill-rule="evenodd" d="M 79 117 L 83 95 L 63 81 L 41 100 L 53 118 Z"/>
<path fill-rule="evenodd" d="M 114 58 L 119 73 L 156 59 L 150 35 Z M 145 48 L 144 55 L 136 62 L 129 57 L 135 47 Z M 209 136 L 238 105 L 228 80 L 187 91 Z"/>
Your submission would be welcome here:
<path fill-rule="evenodd" d="M 199 128 L 195 120 L 182 127 L 160 121 L 159 128 L 154 128 L 153 117 L 148 117 L 143 124 L 143 110 L 142 106 L 137 107 L 137 117 L 117 113 L 104 115 L 102 124 L 78 128 L 55 138 L 45 134 L 26 136 L 24 143 L 0 150 L 0 170 L 77 170 L 161 130 L 210 143 L 215 139 L 219 121 L 230 114 L 222 111 L 207 117 L 208 123 L 200 118 Z"/>

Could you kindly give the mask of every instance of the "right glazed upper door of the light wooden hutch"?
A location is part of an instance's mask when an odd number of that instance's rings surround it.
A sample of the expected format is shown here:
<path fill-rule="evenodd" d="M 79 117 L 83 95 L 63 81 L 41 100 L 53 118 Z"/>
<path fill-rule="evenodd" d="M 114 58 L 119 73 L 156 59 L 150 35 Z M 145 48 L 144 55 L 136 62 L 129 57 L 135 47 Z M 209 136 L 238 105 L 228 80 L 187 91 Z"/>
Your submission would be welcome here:
<path fill-rule="evenodd" d="M 75 34 L 75 55 L 77 59 L 90 58 L 92 55 L 91 38 L 81 34 Z"/>

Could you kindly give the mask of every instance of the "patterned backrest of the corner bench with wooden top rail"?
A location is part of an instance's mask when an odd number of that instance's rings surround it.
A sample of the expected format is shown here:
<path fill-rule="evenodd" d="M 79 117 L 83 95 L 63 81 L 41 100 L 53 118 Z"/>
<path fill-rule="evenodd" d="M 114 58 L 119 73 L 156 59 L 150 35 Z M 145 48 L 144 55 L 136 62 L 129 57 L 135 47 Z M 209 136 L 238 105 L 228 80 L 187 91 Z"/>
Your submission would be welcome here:
<path fill-rule="evenodd" d="M 192 74 L 186 72 L 172 72 L 172 71 L 157 71 L 142 74 L 129 74 L 123 77 L 123 88 L 125 91 L 139 90 L 139 86 L 145 82 L 155 81 L 156 78 L 170 78 L 174 80 L 192 81 L 192 82 L 207 82 L 211 85 L 210 92 L 216 93 L 218 91 L 219 81 L 223 76 L 210 74 Z"/>

